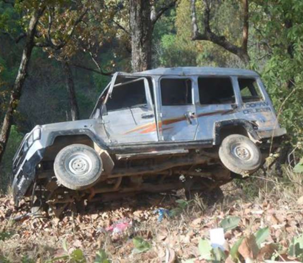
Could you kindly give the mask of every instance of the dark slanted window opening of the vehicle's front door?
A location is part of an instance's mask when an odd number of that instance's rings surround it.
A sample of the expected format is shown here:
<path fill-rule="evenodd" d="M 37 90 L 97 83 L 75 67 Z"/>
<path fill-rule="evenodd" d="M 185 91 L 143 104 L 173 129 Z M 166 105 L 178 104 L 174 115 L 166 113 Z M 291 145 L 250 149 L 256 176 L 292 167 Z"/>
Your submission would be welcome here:
<path fill-rule="evenodd" d="M 112 97 L 106 103 L 106 110 L 109 112 L 146 106 L 145 86 L 142 79 L 114 87 Z"/>

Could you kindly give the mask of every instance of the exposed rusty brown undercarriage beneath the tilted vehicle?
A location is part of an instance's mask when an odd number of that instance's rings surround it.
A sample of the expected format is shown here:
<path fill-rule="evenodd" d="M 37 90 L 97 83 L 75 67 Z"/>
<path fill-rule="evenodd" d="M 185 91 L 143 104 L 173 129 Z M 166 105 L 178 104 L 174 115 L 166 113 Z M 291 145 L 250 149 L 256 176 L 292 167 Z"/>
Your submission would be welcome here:
<path fill-rule="evenodd" d="M 153 155 L 151 157 L 151 155 Z M 178 189 L 211 192 L 228 183 L 232 177 L 216 153 L 202 150 L 171 151 L 110 156 L 113 167 L 104 166 L 98 182 L 92 187 L 71 190 L 58 184 L 52 161 L 42 161 L 36 174 L 35 191 L 40 208 L 45 204 L 59 216 L 67 207 L 106 202 L 142 192 L 157 193 Z M 102 160 L 105 160 L 102 158 Z"/>

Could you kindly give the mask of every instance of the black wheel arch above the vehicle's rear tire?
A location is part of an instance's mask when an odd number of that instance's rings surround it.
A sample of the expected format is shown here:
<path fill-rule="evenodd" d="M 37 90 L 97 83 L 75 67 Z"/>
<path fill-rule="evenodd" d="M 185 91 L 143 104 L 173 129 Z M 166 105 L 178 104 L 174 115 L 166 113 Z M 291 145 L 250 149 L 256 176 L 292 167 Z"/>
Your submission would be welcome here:
<path fill-rule="evenodd" d="M 253 122 L 243 119 L 218 121 L 214 125 L 214 144 L 220 145 L 222 140 L 231 134 L 241 134 L 253 142 L 258 142 L 260 138 L 255 131 L 256 128 Z"/>

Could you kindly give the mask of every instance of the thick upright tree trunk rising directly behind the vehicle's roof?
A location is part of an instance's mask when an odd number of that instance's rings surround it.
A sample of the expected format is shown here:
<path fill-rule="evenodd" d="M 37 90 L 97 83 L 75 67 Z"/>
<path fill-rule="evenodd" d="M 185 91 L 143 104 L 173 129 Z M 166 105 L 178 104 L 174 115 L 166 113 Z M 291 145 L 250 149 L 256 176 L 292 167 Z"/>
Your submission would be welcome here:
<path fill-rule="evenodd" d="M 132 70 L 138 72 L 151 68 L 151 5 L 145 0 L 130 0 L 129 5 Z"/>

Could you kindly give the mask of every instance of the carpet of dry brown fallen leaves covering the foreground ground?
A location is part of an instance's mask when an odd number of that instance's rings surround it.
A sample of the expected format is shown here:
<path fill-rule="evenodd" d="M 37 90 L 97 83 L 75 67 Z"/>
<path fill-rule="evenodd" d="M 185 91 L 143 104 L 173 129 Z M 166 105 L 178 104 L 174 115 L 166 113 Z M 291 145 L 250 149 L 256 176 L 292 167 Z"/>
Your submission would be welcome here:
<path fill-rule="evenodd" d="M 223 210 L 217 207 L 207 211 L 201 211 L 193 204 L 180 215 L 174 218 L 164 217 L 158 222 L 155 209 L 160 205 L 165 209 L 173 209 L 177 206 L 177 198 L 180 197 L 167 196 L 163 199 L 159 195 L 148 195 L 145 204 L 140 204 L 139 201 L 134 204 L 134 200 L 120 201 L 88 214 L 67 214 L 62 220 L 24 218 L 23 221 L 12 224 L 9 218 L 24 213 L 27 206 L 22 204 L 22 208 L 16 212 L 12 199 L 2 196 L 0 231 L 13 231 L 14 234 L 0 240 L 0 255 L 5 255 L 11 262 L 21 262 L 21 257 L 28 255 L 34 262 L 43 263 L 55 254 L 60 254 L 62 241 L 66 240 L 71 249 L 81 248 L 88 262 L 93 261 L 99 248 L 106 251 L 112 262 L 182 262 L 199 256 L 200 239 L 209 238 L 209 230 L 218 228 L 223 218 L 238 216 L 241 218 L 238 227 L 227 231 L 225 239 L 232 245 L 244 238 L 239 253 L 243 258 L 261 261 L 268 259 L 268 255 L 275 250 L 270 243 L 278 243 L 286 249 L 291 238 L 302 232 L 302 206 L 296 204 L 296 207 L 291 207 L 282 200 L 244 204 L 234 202 Z M 163 199 L 162 203 L 159 203 L 159 199 Z M 123 225 L 124 219 L 131 223 L 128 227 L 118 233 L 109 231 L 117 222 L 122 222 Z M 270 231 L 266 241 L 268 244 L 265 242 L 256 255 L 252 245 L 254 236 L 249 233 L 266 226 Z M 150 243 L 151 248 L 142 253 L 134 253 L 132 239 L 136 236 Z M 226 262 L 233 262 L 230 258 L 228 260 Z"/>

